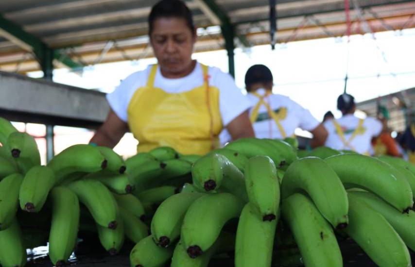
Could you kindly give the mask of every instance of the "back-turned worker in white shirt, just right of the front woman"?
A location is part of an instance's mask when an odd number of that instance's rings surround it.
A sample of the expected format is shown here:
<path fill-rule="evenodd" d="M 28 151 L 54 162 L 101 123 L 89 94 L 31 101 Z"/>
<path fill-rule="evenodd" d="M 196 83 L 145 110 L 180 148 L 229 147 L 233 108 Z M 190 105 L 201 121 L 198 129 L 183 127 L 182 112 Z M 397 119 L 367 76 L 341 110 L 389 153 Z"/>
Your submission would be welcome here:
<path fill-rule="evenodd" d="M 294 137 L 297 128 L 311 132 L 311 147 L 324 145 L 327 131 L 310 111 L 289 97 L 273 94 L 273 75 L 264 65 L 254 65 L 245 74 L 251 123 L 258 138 L 284 139 Z"/>

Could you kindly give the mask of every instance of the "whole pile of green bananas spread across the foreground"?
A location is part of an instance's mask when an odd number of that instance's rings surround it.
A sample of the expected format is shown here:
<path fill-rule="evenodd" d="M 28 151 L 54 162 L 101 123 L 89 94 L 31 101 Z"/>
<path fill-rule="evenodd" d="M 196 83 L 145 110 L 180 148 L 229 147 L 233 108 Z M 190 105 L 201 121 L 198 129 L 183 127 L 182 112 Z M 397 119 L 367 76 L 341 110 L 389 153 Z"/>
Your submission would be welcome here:
<path fill-rule="evenodd" d="M 0 118 L 0 265 L 23 266 L 26 248 L 49 241 L 62 266 L 88 231 L 111 255 L 136 244 L 132 267 L 336 267 L 336 235 L 379 266 L 411 266 L 415 167 L 286 141 L 244 138 L 206 155 L 160 147 L 125 162 L 74 145 L 41 166 L 35 140 Z"/>

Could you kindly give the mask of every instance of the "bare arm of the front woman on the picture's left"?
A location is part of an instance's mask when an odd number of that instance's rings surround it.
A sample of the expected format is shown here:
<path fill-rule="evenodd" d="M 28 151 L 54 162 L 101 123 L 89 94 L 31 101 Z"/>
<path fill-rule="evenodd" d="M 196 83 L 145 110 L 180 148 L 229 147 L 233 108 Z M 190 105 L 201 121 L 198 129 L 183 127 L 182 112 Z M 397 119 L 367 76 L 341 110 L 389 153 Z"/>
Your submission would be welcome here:
<path fill-rule="evenodd" d="M 114 148 L 122 136 L 128 131 L 128 124 L 121 120 L 115 112 L 110 109 L 103 125 L 92 137 L 90 143 L 98 146 Z"/>

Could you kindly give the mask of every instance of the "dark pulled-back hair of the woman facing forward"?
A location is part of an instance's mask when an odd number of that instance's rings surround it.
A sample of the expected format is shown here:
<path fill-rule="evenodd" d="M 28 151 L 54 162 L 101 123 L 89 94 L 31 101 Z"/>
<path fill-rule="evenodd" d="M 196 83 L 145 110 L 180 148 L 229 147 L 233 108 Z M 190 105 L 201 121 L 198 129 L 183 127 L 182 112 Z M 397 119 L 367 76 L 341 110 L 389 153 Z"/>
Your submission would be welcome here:
<path fill-rule="evenodd" d="M 154 21 L 160 17 L 183 18 L 190 32 L 194 33 L 193 17 L 190 9 L 181 0 L 161 0 L 153 6 L 148 16 L 149 35 L 153 32 Z"/>

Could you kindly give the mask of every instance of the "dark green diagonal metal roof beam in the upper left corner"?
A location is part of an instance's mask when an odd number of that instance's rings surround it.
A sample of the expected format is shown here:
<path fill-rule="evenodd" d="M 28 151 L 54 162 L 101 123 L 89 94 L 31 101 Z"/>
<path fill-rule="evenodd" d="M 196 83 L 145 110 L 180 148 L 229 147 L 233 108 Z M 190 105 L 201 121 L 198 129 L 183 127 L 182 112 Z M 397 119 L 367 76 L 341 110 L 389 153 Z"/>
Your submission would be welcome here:
<path fill-rule="evenodd" d="M 34 52 L 39 59 L 44 58 L 44 53 L 49 48 L 40 39 L 30 33 L 25 32 L 20 26 L 14 24 L 1 15 L 0 25 L 0 35 L 4 36 L 6 39 L 15 43 L 17 46 L 21 47 L 24 50 Z M 53 52 L 53 58 L 60 60 L 63 64 L 67 65 L 70 68 L 83 67 L 82 65 L 73 62 L 69 57 L 62 55 L 59 51 Z"/>

